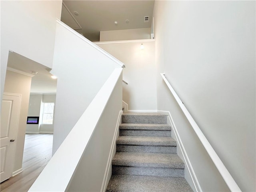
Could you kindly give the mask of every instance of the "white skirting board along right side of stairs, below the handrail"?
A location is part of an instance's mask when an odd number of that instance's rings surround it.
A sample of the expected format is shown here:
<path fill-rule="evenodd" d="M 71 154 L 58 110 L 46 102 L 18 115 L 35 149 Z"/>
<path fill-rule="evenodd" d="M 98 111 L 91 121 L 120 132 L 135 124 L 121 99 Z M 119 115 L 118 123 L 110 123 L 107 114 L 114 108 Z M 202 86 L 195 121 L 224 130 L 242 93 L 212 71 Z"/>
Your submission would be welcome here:
<path fill-rule="evenodd" d="M 190 178 L 191 178 L 191 180 L 192 180 L 192 182 L 193 182 L 193 184 L 194 184 L 194 188 L 196 189 L 196 192 L 201 192 L 201 191 L 202 191 L 202 188 L 201 188 L 201 186 L 200 186 L 200 184 L 199 184 L 199 182 L 198 182 L 198 179 L 197 179 L 197 177 L 196 177 L 196 174 L 195 174 L 195 172 L 194 172 L 194 169 L 193 169 L 193 167 L 192 167 L 192 164 L 190 163 L 190 160 L 189 160 L 189 158 L 188 158 L 188 154 L 187 154 L 187 152 L 186 152 L 186 150 L 185 150 L 185 148 L 184 148 L 184 145 L 183 145 L 183 143 L 182 143 L 182 140 L 181 140 L 181 138 L 180 138 L 180 135 L 179 135 L 178 130 L 177 130 L 175 124 L 174 124 L 174 121 L 173 121 L 173 119 L 172 119 L 172 116 L 171 116 L 170 112 L 169 112 L 169 111 L 161 111 L 161 110 L 158 110 L 158 112 L 159 112 L 159 113 L 162 113 L 162 114 L 165 114 L 165 115 L 168 116 L 168 120 L 169 120 L 170 125 L 171 125 L 171 127 L 172 127 L 172 131 L 174 132 L 174 134 L 175 134 L 175 139 L 176 139 L 176 141 L 177 141 L 177 143 L 178 143 L 178 146 L 177 146 L 177 147 L 180 149 L 180 151 L 181 151 L 181 153 L 182 153 L 182 154 L 178 154 L 178 155 L 179 155 L 182 159 L 184 159 L 184 161 L 185 161 L 185 166 L 186 166 L 187 169 L 188 169 L 188 172 L 189 172 L 189 174 L 190 174 Z M 178 151 L 178 149 L 177 149 L 177 151 Z"/>

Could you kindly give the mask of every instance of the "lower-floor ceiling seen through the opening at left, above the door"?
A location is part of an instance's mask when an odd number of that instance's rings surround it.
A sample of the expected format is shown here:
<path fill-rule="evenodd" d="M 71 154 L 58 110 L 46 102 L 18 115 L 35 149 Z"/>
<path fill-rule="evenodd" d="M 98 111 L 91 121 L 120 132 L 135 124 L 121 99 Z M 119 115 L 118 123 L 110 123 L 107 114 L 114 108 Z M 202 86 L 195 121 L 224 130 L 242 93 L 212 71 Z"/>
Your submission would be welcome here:
<path fill-rule="evenodd" d="M 57 80 L 51 78 L 50 68 L 11 51 L 9 51 L 7 67 L 31 75 L 32 71 L 38 72 L 32 77 L 30 93 L 56 93 Z"/>

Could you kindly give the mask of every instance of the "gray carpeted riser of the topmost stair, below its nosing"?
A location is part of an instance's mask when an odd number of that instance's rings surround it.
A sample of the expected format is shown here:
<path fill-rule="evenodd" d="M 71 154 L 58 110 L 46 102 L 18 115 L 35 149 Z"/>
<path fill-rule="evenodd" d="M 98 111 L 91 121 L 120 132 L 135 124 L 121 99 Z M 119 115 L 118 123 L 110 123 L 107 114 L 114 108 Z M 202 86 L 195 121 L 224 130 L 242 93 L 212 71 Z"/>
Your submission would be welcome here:
<path fill-rule="evenodd" d="M 122 123 L 167 124 L 166 116 L 122 115 Z"/>

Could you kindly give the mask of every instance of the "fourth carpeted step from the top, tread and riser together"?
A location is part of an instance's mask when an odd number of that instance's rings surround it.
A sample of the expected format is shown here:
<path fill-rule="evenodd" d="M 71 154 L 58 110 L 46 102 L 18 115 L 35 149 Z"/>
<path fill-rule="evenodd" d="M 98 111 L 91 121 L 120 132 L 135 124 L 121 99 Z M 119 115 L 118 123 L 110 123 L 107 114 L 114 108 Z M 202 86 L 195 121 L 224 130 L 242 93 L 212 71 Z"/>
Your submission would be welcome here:
<path fill-rule="evenodd" d="M 184 163 L 176 154 L 116 152 L 112 174 L 184 177 Z"/>

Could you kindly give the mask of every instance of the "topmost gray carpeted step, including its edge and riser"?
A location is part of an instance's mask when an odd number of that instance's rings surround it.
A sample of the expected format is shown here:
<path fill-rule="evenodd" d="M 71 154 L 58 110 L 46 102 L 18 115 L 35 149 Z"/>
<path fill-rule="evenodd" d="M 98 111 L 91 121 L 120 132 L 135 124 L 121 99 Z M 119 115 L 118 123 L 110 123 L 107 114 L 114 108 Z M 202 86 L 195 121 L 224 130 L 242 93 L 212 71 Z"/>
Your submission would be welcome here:
<path fill-rule="evenodd" d="M 122 123 L 167 124 L 167 118 L 160 113 L 123 113 Z"/>

